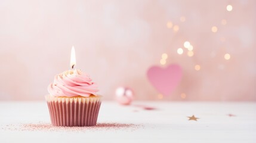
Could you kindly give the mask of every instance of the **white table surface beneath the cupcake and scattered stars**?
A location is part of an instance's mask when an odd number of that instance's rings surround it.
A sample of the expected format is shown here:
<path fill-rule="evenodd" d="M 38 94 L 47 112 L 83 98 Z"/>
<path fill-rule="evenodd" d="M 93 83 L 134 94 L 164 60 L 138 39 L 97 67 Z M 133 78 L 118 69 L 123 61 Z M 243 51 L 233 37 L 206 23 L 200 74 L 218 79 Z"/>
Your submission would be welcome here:
<path fill-rule="evenodd" d="M 50 123 L 46 102 L 0 102 L 0 142 L 256 142 L 256 102 L 134 102 L 122 106 L 103 101 L 98 123 L 136 128 L 8 130 L 7 126 Z M 143 110 L 149 105 L 157 110 Z M 187 116 L 195 114 L 196 122 Z M 235 114 L 229 117 L 227 114 Z"/>

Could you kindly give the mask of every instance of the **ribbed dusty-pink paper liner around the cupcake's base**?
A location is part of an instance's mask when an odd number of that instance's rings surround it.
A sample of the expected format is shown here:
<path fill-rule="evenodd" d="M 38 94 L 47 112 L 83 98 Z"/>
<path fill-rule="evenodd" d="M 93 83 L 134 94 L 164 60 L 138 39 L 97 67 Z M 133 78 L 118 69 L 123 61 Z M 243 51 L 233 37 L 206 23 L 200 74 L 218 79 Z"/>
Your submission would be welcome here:
<path fill-rule="evenodd" d="M 46 95 L 54 126 L 94 126 L 100 110 L 100 97 L 53 97 Z"/>

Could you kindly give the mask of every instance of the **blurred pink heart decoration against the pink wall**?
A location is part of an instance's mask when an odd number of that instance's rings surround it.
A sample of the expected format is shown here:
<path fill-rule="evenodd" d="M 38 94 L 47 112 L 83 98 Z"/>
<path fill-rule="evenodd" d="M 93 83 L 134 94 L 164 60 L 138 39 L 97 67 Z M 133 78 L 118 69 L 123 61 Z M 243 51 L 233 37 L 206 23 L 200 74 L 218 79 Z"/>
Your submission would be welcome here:
<path fill-rule="evenodd" d="M 168 96 L 180 83 L 182 69 L 178 64 L 170 64 L 165 68 L 153 66 L 147 71 L 147 77 L 161 94 Z"/>

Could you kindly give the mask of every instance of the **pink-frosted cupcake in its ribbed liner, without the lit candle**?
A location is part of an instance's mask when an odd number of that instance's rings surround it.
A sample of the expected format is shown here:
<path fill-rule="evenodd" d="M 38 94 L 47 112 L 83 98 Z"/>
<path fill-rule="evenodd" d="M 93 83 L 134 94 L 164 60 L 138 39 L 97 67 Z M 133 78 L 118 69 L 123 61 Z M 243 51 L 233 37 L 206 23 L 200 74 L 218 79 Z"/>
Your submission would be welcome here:
<path fill-rule="evenodd" d="M 81 70 L 57 74 L 48 86 L 45 99 L 54 126 L 94 126 L 97 123 L 101 96 L 97 85 Z"/>

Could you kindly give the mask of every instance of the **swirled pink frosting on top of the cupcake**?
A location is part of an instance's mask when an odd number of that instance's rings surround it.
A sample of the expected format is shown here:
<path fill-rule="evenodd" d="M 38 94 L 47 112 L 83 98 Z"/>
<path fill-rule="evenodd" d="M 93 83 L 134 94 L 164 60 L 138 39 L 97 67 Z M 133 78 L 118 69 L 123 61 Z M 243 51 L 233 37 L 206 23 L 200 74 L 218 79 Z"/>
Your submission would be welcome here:
<path fill-rule="evenodd" d="M 97 85 L 81 70 L 68 70 L 57 74 L 54 82 L 48 86 L 48 92 L 54 97 L 90 97 L 97 95 Z"/>

